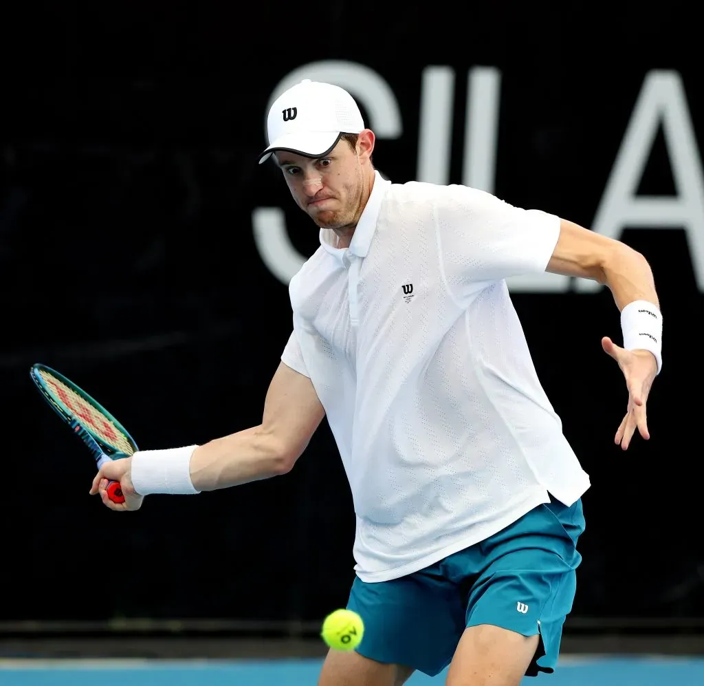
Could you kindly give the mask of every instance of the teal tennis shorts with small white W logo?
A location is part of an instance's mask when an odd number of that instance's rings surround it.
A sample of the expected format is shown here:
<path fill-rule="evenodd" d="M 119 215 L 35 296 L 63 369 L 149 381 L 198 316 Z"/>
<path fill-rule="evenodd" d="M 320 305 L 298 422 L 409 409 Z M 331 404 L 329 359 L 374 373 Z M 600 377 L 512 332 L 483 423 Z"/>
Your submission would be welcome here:
<path fill-rule="evenodd" d="M 553 672 L 582 561 L 581 499 L 551 500 L 489 539 L 389 581 L 356 578 L 348 608 L 362 616 L 358 653 L 434 676 L 465 627 L 491 624 L 541 640 L 527 676 Z"/>

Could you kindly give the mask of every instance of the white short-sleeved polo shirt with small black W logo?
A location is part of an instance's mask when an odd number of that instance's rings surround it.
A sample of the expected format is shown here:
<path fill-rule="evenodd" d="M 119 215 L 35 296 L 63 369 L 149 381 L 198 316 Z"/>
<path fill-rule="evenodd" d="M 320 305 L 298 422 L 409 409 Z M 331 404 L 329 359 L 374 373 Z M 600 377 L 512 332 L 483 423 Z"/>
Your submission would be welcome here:
<path fill-rule="evenodd" d="M 558 217 L 378 173 L 348 249 L 291 280 L 282 361 L 307 375 L 350 483 L 356 573 L 396 578 L 589 477 L 537 378 L 505 277 L 543 272 Z"/>

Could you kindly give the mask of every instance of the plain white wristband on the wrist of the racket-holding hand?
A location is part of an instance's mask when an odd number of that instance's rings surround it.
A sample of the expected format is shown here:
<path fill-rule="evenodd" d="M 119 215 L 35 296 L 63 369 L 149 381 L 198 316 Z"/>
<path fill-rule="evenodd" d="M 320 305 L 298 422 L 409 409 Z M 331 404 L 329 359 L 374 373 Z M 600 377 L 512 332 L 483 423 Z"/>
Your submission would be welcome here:
<path fill-rule="evenodd" d="M 132 455 L 132 485 L 139 495 L 196 494 L 191 481 L 191 455 L 197 445 L 141 450 Z"/>

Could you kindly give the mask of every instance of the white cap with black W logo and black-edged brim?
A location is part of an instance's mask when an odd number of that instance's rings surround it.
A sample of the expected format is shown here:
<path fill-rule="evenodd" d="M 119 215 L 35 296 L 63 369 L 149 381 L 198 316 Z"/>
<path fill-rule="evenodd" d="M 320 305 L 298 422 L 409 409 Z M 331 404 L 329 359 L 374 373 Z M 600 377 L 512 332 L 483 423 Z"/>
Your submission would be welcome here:
<path fill-rule="evenodd" d="M 360 133 L 364 120 L 353 97 L 339 86 L 306 79 L 274 101 L 267 119 L 269 146 L 259 157 L 276 150 L 306 157 L 329 153 L 343 133 Z"/>

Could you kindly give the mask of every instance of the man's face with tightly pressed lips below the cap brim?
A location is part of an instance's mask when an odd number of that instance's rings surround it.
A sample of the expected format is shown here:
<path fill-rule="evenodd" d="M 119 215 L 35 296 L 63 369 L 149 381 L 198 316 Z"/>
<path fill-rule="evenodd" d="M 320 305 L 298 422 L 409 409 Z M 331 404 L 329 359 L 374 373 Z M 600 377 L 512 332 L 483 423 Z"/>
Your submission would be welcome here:
<path fill-rule="evenodd" d="M 275 158 L 296 204 L 318 226 L 339 229 L 356 223 L 363 197 L 358 149 L 341 140 L 322 158 L 288 151 L 277 152 Z"/>

